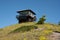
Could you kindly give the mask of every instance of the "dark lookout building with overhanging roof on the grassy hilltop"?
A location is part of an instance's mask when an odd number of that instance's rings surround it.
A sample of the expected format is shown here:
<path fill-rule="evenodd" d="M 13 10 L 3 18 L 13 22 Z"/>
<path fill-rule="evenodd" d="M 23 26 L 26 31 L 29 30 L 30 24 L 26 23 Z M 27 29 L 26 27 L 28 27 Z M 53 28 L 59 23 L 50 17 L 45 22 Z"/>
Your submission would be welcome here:
<path fill-rule="evenodd" d="M 32 10 L 17 11 L 17 13 L 19 13 L 19 15 L 16 16 L 19 23 L 36 21 L 36 14 Z"/>

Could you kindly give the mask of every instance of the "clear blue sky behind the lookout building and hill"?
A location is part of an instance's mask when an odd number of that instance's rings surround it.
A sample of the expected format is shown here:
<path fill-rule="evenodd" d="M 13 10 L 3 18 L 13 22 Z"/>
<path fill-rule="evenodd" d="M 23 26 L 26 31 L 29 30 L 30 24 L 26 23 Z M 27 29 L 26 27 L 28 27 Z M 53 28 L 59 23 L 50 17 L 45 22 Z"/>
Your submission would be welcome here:
<path fill-rule="evenodd" d="M 0 0 L 0 28 L 18 23 L 17 10 L 31 9 L 37 21 L 46 15 L 46 22 L 60 21 L 60 0 Z"/>

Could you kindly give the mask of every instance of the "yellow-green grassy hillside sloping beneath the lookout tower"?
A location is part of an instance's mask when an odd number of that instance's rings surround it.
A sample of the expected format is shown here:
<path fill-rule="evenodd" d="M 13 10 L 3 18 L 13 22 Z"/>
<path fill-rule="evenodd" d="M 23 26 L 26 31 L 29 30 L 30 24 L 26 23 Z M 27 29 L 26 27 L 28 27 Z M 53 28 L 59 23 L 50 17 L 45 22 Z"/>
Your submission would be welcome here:
<path fill-rule="evenodd" d="M 59 40 L 59 32 L 59 25 L 26 22 L 0 28 L 0 40 Z"/>

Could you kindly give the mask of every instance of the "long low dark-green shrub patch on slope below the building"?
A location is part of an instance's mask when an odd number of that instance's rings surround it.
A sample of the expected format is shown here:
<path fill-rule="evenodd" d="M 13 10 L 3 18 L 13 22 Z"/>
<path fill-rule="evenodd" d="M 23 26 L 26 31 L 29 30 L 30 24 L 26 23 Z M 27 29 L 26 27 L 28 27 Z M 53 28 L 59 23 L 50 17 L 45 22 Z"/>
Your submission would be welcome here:
<path fill-rule="evenodd" d="M 25 32 L 25 31 L 30 31 L 31 29 L 37 29 L 37 26 L 31 25 L 31 26 L 22 26 L 20 28 L 15 29 L 12 32 Z"/>

